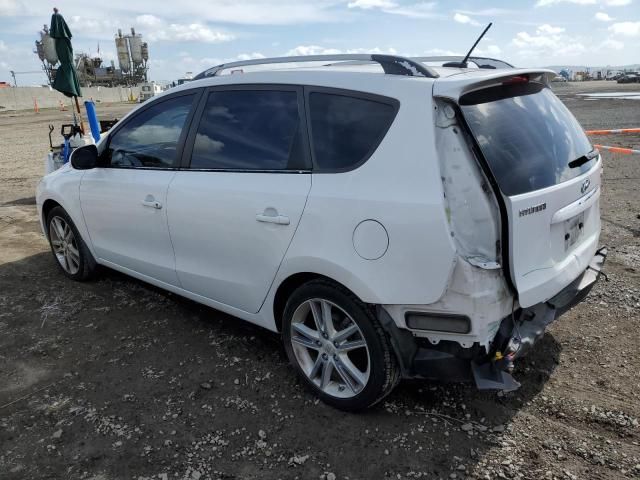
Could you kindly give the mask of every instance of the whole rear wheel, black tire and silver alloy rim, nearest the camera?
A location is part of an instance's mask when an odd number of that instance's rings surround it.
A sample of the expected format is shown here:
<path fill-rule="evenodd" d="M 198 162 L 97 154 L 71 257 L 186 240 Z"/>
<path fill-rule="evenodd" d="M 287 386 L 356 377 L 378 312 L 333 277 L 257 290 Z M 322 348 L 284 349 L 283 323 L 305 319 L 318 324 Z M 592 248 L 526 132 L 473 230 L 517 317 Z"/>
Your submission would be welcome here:
<path fill-rule="evenodd" d="M 284 311 L 289 361 L 325 403 L 341 410 L 370 407 L 397 385 L 400 372 L 372 309 L 324 280 L 298 288 Z"/>

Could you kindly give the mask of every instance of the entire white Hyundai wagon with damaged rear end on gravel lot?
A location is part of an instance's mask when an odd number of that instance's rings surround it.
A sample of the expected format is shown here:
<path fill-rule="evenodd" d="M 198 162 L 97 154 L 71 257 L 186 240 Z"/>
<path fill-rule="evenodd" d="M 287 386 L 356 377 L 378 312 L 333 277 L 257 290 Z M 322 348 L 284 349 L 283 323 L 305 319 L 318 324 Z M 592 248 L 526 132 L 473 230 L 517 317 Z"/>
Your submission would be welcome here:
<path fill-rule="evenodd" d="M 71 279 L 103 265 L 280 332 L 335 407 L 401 378 L 515 389 L 599 277 L 602 164 L 552 72 L 487 62 L 215 67 L 44 177 L 43 231 Z"/>

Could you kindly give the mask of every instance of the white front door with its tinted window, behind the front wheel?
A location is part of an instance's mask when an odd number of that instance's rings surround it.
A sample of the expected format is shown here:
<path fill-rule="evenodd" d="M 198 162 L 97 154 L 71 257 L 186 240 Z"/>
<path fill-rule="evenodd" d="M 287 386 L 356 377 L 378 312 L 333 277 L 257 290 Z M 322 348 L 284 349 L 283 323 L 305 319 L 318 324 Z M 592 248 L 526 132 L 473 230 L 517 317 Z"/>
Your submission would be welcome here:
<path fill-rule="evenodd" d="M 107 139 L 102 167 L 84 174 L 80 204 L 103 263 L 178 285 L 167 189 L 195 97 L 193 91 L 173 96 L 134 114 Z"/>

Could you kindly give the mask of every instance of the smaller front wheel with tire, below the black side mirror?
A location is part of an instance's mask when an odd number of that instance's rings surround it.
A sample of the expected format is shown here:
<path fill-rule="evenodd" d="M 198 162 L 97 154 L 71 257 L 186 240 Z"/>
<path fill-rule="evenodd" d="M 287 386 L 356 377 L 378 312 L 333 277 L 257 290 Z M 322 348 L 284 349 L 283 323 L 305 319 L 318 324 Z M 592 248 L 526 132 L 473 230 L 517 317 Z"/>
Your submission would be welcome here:
<path fill-rule="evenodd" d="M 49 212 L 47 230 L 51 252 L 62 272 L 73 280 L 89 279 L 96 270 L 96 261 L 62 207 Z"/>

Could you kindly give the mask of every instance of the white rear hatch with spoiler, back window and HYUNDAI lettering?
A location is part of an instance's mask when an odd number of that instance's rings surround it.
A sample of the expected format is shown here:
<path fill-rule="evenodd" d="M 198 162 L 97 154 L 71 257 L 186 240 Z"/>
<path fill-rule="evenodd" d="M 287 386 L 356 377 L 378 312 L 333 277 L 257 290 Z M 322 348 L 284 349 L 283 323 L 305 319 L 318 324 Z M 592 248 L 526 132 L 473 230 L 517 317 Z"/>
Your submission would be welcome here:
<path fill-rule="evenodd" d="M 556 295 L 591 261 L 600 235 L 601 164 L 548 88 L 551 72 L 505 73 L 444 78 L 434 95 L 458 105 L 476 142 L 507 216 L 503 262 L 528 307 Z"/>

